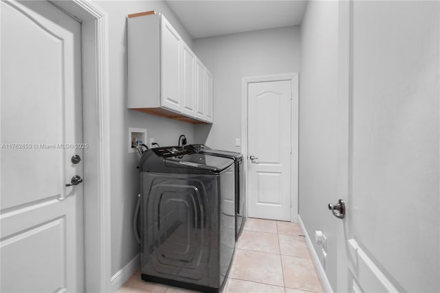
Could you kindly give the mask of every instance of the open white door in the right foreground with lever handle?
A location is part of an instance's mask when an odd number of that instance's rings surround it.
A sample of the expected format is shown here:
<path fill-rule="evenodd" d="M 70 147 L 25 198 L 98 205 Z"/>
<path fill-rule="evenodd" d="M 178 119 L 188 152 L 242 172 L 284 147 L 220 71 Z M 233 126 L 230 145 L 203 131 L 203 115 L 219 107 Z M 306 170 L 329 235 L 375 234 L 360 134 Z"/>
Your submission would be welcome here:
<path fill-rule="evenodd" d="M 336 291 L 440 292 L 439 2 L 351 5 Z"/>

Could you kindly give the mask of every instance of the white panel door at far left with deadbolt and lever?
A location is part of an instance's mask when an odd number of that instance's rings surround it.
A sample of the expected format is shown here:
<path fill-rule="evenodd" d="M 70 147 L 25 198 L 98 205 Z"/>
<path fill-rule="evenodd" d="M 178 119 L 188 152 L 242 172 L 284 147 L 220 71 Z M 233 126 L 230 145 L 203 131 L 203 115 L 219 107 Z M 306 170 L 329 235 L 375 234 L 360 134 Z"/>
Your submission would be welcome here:
<path fill-rule="evenodd" d="M 84 290 L 80 64 L 80 23 L 1 1 L 1 292 Z"/>

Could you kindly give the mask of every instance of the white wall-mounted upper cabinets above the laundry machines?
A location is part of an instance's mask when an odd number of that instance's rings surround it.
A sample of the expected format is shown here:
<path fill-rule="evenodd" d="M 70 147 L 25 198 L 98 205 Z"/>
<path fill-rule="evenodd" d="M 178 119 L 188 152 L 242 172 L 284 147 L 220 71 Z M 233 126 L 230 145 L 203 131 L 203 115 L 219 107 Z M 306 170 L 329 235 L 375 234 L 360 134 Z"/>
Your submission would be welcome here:
<path fill-rule="evenodd" d="M 128 108 L 191 123 L 212 121 L 212 75 L 162 14 L 130 14 L 127 49 Z"/>

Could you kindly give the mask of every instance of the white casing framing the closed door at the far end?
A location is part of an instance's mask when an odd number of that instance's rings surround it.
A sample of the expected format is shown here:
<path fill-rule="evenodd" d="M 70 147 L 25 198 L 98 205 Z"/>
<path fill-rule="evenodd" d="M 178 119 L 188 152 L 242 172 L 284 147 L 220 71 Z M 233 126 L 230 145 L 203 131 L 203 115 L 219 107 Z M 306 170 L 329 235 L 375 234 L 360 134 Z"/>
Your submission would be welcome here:
<path fill-rule="evenodd" d="M 273 82 L 278 80 L 290 80 L 292 82 L 292 154 L 291 165 L 291 206 L 290 222 L 298 222 L 298 126 L 299 126 L 299 98 L 298 98 L 298 73 L 282 73 L 275 75 L 259 75 L 241 78 L 241 152 L 246 159 L 245 172 L 245 211 L 248 215 L 248 84 L 252 82 Z"/>

